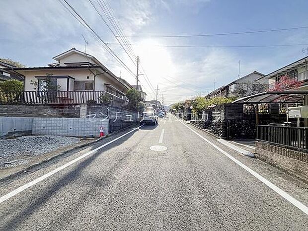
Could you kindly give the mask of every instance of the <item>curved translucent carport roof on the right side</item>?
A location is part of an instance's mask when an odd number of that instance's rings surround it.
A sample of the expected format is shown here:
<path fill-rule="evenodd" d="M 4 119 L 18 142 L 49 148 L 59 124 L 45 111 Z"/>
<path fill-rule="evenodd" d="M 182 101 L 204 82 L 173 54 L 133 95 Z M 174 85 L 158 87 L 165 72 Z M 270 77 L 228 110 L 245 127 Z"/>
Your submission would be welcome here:
<path fill-rule="evenodd" d="M 308 90 L 266 91 L 246 96 L 232 103 L 299 103 L 304 101 Z"/>

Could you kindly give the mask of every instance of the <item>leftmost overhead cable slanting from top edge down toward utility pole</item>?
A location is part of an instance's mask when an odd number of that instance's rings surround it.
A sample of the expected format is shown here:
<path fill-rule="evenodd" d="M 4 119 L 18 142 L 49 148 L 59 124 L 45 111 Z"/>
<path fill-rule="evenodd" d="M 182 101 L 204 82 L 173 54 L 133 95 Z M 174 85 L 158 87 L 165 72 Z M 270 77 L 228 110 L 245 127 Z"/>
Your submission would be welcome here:
<path fill-rule="evenodd" d="M 77 21 L 115 58 L 130 74 L 135 77 L 135 74 L 124 64 L 124 62 L 108 47 L 101 37 L 86 23 L 86 21 L 78 14 L 77 10 L 70 5 L 67 0 L 58 0 L 76 19 Z M 64 2 L 65 3 L 64 3 Z M 71 10 L 75 13 L 73 13 Z"/>

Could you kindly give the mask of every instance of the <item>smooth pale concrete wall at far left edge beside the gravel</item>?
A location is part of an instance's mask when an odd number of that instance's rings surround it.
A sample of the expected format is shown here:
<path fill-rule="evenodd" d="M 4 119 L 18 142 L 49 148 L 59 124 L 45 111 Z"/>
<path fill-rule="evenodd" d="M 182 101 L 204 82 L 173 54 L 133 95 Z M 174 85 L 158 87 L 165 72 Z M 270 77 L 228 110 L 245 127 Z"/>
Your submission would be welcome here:
<path fill-rule="evenodd" d="M 0 137 L 31 135 L 33 118 L 0 117 Z"/>

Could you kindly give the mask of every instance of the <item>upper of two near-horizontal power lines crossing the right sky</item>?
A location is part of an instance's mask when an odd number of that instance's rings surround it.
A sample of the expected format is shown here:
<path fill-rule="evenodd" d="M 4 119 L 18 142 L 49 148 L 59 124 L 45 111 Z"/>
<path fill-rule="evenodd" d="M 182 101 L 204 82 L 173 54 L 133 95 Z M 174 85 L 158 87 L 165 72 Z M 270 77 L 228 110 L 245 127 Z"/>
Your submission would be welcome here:
<path fill-rule="evenodd" d="M 185 37 L 206 37 L 206 36 L 221 36 L 221 35 L 235 35 L 235 34 L 254 34 L 264 32 L 276 32 L 276 31 L 287 31 L 287 30 L 299 30 L 305 29 L 308 26 L 291 27 L 283 29 L 271 29 L 271 30 L 255 30 L 255 31 L 242 31 L 242 32 L 231 32 L 231 33 L 218 33 L 218 34 L 195 34 L 195 35 L 132 35 L 126 36 L 130 38 L 185 38 Z"/>

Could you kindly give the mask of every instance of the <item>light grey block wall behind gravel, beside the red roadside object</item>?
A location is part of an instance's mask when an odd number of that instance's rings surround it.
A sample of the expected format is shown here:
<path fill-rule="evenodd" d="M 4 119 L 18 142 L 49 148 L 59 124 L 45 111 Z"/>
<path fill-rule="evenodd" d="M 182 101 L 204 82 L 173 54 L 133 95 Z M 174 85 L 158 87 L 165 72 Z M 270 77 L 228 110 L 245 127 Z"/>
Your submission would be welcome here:
<path fill-rule="evenodd" d="M 99 137 L 99 128 L 108 134 L 108 119 L 89 118 L 34 118 L 33 135 L 94 136 Z"/>

